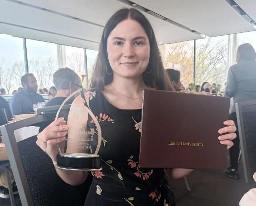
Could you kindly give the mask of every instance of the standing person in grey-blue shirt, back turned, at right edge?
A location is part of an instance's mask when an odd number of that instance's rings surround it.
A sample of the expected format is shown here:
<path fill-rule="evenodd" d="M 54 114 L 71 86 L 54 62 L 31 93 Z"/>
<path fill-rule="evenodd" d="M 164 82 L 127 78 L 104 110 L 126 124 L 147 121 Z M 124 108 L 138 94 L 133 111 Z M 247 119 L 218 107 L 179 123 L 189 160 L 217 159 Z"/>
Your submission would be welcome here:
<path fill-rule="evenodd" d="M 256 52 L 252 45 L 241 44 L 237 48 L 236 62 L 228 70 L 227 87 L 225 96 L 233 97 L 234 104 L 229 116 L 230 120 L 236 123 L 236 108 L 238 102 L 250 101 L 256 99 Z M 229 150 L 230 167 L 224 172 L 225 175 L 239 179 L 238 157 L 239 157 L 239 133 L 236 131 L 237 138 L 234 139 L 234 147 Z"/>

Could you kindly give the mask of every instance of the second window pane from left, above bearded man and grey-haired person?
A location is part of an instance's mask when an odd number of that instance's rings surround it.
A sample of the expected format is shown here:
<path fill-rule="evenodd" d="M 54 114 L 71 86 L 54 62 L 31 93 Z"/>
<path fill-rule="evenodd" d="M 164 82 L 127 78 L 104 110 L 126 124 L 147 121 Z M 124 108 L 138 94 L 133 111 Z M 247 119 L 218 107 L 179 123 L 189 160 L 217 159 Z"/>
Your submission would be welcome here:
<path fill-rule="evenodd" d="M 38 88 L 53 86 L 52 75 L 58 69 L 57 45 L 27 39 L 29 72 L 37 78 Z"/>

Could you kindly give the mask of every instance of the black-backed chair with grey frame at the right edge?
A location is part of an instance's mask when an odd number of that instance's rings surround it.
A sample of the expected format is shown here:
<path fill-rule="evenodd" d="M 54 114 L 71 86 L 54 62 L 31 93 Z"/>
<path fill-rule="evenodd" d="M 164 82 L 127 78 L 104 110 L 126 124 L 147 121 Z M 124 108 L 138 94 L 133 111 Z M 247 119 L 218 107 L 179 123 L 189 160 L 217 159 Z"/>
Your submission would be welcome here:
<path fill-rule="evenodd" d="M 256 172 L 256 100 L 236 103 L 236 117 L 246 182 Z M 254 182 L 255 183 L 255 182 Z"/>

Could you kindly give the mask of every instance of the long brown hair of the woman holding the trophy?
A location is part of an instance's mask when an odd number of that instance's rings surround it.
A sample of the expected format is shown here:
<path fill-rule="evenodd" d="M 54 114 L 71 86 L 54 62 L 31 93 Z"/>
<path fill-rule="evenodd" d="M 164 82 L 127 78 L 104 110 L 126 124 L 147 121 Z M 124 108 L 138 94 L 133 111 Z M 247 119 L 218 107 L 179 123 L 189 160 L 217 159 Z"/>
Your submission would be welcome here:
<path fill-rule="evenodd" d="M 92 72 L 92 81 L 90 88 L 103 88 L 113 80 L 113 72 L 111 75 L 106 70 L 112 70 L 108 61 L 107 54 L 107 39 L 111 31 L 121 21 L 126 19 L 136 20 L 145 30 L 150 44 L 150 57 L 148 67 L 143 73 L 144 83 L 151 88 L 159 90 L 175 91 L 167 73 L 164 71 L 164 66 L 160 56 L 160 52 L 154 36 L 154 31 L 146 19 L 146 17 L 136 9 L 121 9 L 118 10 L 106 23 L 102 33 L 102 39 L 99 46 L 99 53 Z"/>

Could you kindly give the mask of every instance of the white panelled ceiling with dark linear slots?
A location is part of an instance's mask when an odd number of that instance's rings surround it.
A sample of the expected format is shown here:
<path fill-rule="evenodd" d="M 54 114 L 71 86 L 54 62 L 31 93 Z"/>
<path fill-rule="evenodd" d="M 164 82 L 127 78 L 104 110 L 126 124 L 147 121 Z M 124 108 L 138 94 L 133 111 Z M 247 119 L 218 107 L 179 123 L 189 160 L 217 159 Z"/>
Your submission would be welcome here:
<path fill-rule="evenodd" d="M 256 30 L 226 0 L 133 0 L 151 22 L 158 43 Z M 98 49 L 113 13 L 128 0 L 0 0 L 0 33 L 87 49 Z M 256 21 L 256 1 L 236 0 Z M 158 19 L 147 10 L 169 19 Z"/>

